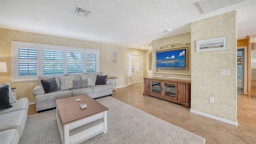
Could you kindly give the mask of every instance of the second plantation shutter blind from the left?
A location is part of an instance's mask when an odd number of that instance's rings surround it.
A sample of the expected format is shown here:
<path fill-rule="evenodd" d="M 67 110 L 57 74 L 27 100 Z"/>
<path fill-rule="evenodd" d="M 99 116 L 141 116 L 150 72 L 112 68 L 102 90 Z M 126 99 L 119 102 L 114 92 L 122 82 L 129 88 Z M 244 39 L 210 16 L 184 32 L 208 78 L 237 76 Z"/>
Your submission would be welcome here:
<path fill-rule="evenodd" d="M 64 74 L 64 51 L 43 50 L 42 74 Z"/>

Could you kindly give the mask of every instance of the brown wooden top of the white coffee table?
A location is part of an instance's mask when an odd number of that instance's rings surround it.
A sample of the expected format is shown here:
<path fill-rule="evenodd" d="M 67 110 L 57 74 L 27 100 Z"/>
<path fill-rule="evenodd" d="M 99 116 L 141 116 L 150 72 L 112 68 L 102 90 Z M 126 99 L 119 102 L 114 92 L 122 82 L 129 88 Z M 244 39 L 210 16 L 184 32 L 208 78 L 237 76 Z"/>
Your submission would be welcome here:
<path fill-rule="evenodd" d="M 80 98 L 81 101 L 75 101 L 75 99 L 78 98 Z M 95 101 L 88 95 L 77 95 L 63 99 L 56 99 L 55 103 L 62 125 L 67 125 L 80 119 L 108 111 L 107 107 L 100 104 L 98 101 Z M 81 109 L 80 105 L 84 103 L 87 107 Z"/>

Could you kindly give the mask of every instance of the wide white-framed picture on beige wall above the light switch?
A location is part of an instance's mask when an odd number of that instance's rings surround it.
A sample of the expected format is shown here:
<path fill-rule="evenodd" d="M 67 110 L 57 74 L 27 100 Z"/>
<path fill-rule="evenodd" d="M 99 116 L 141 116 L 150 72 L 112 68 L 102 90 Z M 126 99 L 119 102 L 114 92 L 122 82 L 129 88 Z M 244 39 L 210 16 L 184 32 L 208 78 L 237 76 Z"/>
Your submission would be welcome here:
<path fill-rule="evenodd" d="M 196 52 L 227 50 L 228 36 L 196 41 Z"/>

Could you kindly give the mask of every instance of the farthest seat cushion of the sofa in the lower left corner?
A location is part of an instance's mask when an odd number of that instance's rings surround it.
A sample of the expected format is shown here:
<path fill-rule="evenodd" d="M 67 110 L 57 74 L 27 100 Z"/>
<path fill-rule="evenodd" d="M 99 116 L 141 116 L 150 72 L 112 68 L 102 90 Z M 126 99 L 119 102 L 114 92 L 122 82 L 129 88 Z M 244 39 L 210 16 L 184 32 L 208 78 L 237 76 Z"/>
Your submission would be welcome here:
<path fill-rule="evenodd" d="M 0 110 L 0 115 L 5 114 L 5 113 L 10 113 L 13 111 L 22 110 L 22 109 L 25 109 L 26 112 L 28 113 L 28 107 L 29 107 L 28 98 L 24 97 L 24 98 L 18 99 L 18 101 L 16 103 L 12 103 L 11 108 Z"/>

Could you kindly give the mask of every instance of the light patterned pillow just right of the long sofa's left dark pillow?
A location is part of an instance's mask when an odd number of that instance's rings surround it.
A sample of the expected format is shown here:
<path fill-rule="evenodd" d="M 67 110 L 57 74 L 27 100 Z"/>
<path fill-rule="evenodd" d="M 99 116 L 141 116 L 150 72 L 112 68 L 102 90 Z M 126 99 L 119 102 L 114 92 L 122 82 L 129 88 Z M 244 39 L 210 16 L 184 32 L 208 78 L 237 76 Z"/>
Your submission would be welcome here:
<path fill-rule="evenodd" d="M 73 88 L 73 80 L 76 80 L 76 75 L 60 76 L 60 90 L 69 90 Z"/>

